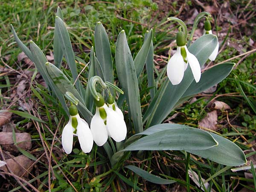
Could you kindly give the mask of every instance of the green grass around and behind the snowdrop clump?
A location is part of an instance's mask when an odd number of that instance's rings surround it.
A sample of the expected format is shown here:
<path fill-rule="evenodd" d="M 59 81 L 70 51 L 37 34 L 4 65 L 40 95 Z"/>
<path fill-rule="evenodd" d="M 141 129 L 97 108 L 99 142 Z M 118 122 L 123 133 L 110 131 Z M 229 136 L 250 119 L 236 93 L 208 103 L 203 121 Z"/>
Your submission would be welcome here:
<path fill-rule="evenodd" d="M 190 2 L 191 3 L 191 2 Z M 14 26 L 17 34 L 23 42 L 28 46 L 29 41 L 33 40 L 43 50 L 46 55 L 49 55 L 53 47 L 53 29 L 55 20 L 55 11 L 60 6 L 64 20 L 69 29 L 70 38 L 73 43 L 75 55 L 81 58 L 86 64 L 90 57 L 90 47 L 93 46 L 93 31 L 97 21 L 101 21 L 106 28 L 111 43 L 111 51 L 115 54 L 115 41 L 119 32 L 124 29 L 127 37 L 128 44 L 131 52 L 138 52 L 143 44 L 143 36 L 146 30 L 150 29 L 149 26 L 154 27 L 154 50 L 156 55 L 163 55 L 168 57 L 166 52 L 169 50 L 168 45 L 174 39 L 173 34 L 169 34 L 168 30 L 171 29 L 171 23 L 165 23 L 165 18 L 158 21 L 157 16 L 152 16 L 156 5 L 149 0 L 131 0 L 128 3 L 122 1 L 108 2 L 108 3 L 83 3 L 77 0 L 75 3 L 69 1 L 25 1 L 13 0 L 6 1 L 0 6 L 0 61 L 3 67 L 8 65 L 18 72 L 22 73 L 28 67 L 23 61 L 17 62 L 17 55 L 21 52 L 14 41 L 11 33 L 10 24 Z M 177 4 L 173 4 L 175 8 Z M 232 4 L 232 6 L 234 6 Z M 82 7 L 82 8 L 81 8 Z M 177 7 L 175 8 L 177 10 Z M 247 10 L 250 11 L 250 10 Z M 168 15 L 166 15 L 167 17 Z M 119 18 L 118 18 L 119 17 Z M 120 19 L 120 17 L 126 19 Z M 130 20 L 130 21 L 129 21 Z M 253 21 L 250 21 L 253 22 Z M 137 24 L 142 23 L 143 25 Z M 254 35 L 255 37 L 255 35 Z M 245 41 L 249 41 L 244 37 Z M 228 41 L 237 41 L 232 36 L 228 37 Z M 245 50 L 250 50 L 251 47 L 244 45 Z M 5 56 L 10 55 L 6 61 Z M 215 63 L 224 61 L 233 56 L 239 55 L 236 49 L 226 46 L 217 58 Z M 135 57 L 135 55 L 133 55 Z M 217 90 L 212 93 L 211 97 L 200 97 L 197 102 L 184 105 L 172 112 L 172 116 L 176 112 L 182 112 L 186 117 L 175 119 L 174 121 L 184 123 L 186 125 L 197 127 L 198 121 L 203 119 L 207 111 L 207 104 L 215 95 L 222 95 L 226 93 L 236 93 L 232 96 L 219 96 L 218 100 L 226 102 L 232 108 L 228 111 L 229 119 L 233 119 L 231 125 L 227 123 L 227 113 L 222 111 L 218 116 L 219 121 L 223 121 L 219 134 L 224 134 L 231 141 L 234 141 L 243 150 L 250 149 L 251 145 L 246 143 L 241 137 L 241 134 L 246 140 L 251 143 L 255 140 L 256 129 L 256 114 L 255 114 L 255 82 L 256 82 L 256 66 L 255 56 L 253 53 L 246 57 L 238 67 L 232 71 L 227 79 L 222 81 Z M 240 58 L 232 60 L 238 62 Z M 168 61 L 167 58 L 164 58 Z M 64 62 L 65 63 L 65 62 Z M 78 64 L 79 71 L 82 70 L 84 64 Z M 7 68 L 7 67 L 6 67 Z M 35 69 L 31 68 L 32 72 Z M 67 65 L 64 64 L 62 70 L 67 76 L 71 76 Z M 156 76 L 160 71 L 155 69 Z M 87 77 L 88 70 L 81 74 L 81 79 Z M 116 76 L 116 72 L 114 74 Z M 17 73 L 11 73 L 5 76 L 0 76 L 0 96 L 2 106 L 7 108 L 12 101 L 9 97 L 12 94 L 13 81 Z M 142 110 L 146 110 L 147 104 L 150 101 L 149 90 L 146 84 L 145 71 L 142 73 L 139 87 L 141 96 L 141 105 L 144 106 Z M 160 78 L 162 79 L 162 78 Z M 135 191 L 137 187 L 147 191 L 167 191 L 172 188 L 174 184 L 166 185 L 166 188 L 160 185 L 155 185 L 150 182 L 142 180 L 136 174 L 128 169 L 122 168 L 118 171 L 119 174 L 125 176 L 127 180 L 123 180 L 112 172 L 111 165 L 102 148 L 97 148 L 94 145 L 90 154 L 84 154 L 80 150 L 79 143 L 76 140 L 73 154 L 66 156 L 62 151 L 61 144 L 56 140 L 60 139 L 61 131 L 67 118 L 63 116 L 64 112 L 60 110 L 58 100 L 51 95 L 51 93 L 40 83 L 40 79 L 35 79 L 29 82 L 31 86 L 30 96 L 25 99 L 32 100 L 36 103 L 34 111 L 30 113 L 38 118 L 43 119 L 45 124 L 37 124 L 27 118 L 16 118 L 16 128 L 20 131 L 29 132 L 32 135 L 33 148 L 29 151 L 30 154 L 25 154 L 30 158 L 40 158 L 44 152 L 49 154 L 49 149 L 52 148 L 51 165 L 44 154 L 36 163 L 36 167 L 29 176 L 29 182 L 36 186 L 38 190 L 47 191 L 48 189 L 48 173 L 49 168 L 53 170 L 50 174 L 51 191 L 73 192 L 76 188 L 77 191 L 105 191 L 111 189 L 112 191 Z M 161 81 L 160 81 L 161 82 Z M 14 82 L 15 83 L 15 82 Z M 86 84 L 84 80 L 84 84 Z M 12 105 L 14 110 L 23 110 L 19 107 L 18 103 Z M 205 110 L 206 109 L 206 110 Z M 126 109 L 127 110 L 127 109 Z M 30 128 L 27 123 L 32 122 Z M 38 131 L 41 131 L 41 135 Z M 55 140 L 54 134 L 56 131 Z M 128 134 L 132 134 L 131 132 Z M 42 144 L 44 143 L 44 145 Z M 53 147 L 52 147 L 53 146 Z M 33 155 L 33 157 L 31 157 Z M 247 157 L 253 154 L 247 154 Z M 122 162 L 121 162 L 122 163 Z M 244 172 L 232 172 L 230 167 L 222 166 L 209 160 L 201 159 L 199 157 L 190 156 L 189 164 L 186 164 L 186 154 L 182 151 L 147 151 L 142 155 L 135 152 L 125 161 L 126 164 L 134 163 L 134 165 L 151 172 L 154 175 L 162 175 L 163 178 L 170 178 L 177 180 L 182 186 L 190 186 L 191 191 L 201 191 L 196 184 L 188 178 L 187 169 L 192 169 L 199 175 L 199 183 L 201 178 L 208 181 L 210 188 L 215 191 L 228 192 L 234 188 L 241 189 L 244 185 L 247 186 L 250 182 L 253 184 L 254 180 L 244 177 Z M 187 168 L 187 169 L 186 169 Z M 9 183 L 9 188 L 5 184 Z M 130 184 L 130 185 L 129 185 Z M 202 184 L 201 184 L 202 185 Z M 238 185 L 238 186 L 237 186 Z M 6 190 L 17 190 L 21 188 L 13 177 L 7 177 L 6 180 L 1 179 L 0 187 Z M 204 186 L 202 186 L 204 188 Z M 208 191 L 210 191 L 208 189 Z"/>

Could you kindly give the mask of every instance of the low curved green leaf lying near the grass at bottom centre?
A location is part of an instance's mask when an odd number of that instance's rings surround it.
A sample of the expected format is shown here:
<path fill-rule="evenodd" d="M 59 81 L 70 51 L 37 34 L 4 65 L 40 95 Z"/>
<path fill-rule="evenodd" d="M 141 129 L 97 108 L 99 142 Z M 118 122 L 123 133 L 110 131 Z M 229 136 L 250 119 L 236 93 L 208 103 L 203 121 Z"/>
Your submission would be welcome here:
<path fill-rule="evenodd" d="M 149 172 L 146 172 L 143 169 L 140 169 L 139 167 L 136 167 L 136 166 L 128 165 L 128 166 L 125 166 L 125 168 L 130 169 L 131 171 L 133 171 L 137 175 L 140 175 L 140 177 L 143 177 L 145 180 L 148 180 L 151 183 L 168 185 L 176 182 L 175 180 L 163 179 Z"/>

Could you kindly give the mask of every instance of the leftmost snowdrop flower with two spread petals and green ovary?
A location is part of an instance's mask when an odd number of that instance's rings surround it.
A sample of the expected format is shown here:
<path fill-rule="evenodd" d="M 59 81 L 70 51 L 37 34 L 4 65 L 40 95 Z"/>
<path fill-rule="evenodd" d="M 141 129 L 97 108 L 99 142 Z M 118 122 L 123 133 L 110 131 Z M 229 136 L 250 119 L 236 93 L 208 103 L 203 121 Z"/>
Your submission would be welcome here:
<path fill-rule="evenodd" d="M 89 125 L 84 119 L 81 119 L 75 105 L 70 106 L 69 112 L 70 120 L 67 125 L 65 125 L 61 135 L 64 151 L 67 154 L 71 153 L 73 147 L 73 135 L 75 135 L 78 137 L 82 151 L 84 153 L 89 153 L 93 148 L 93 135 Z"/>

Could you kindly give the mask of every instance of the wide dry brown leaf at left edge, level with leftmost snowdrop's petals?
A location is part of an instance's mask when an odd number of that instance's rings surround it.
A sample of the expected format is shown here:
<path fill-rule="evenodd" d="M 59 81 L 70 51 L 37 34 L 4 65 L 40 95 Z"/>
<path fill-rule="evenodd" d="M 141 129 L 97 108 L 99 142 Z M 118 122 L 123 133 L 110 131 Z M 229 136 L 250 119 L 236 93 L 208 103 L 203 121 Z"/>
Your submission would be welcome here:
<path fill-rule="evenodd" d="M 28 150 L 31 149 L 31 135 L 28 133 L 15 133 L 16 143 L 18 147 Z M 20 143 L 21 142 L 21 143 Z M 18 151 L 14 145 L 12 132 L 0 132 L 0 144 L 5 151 Z"/>

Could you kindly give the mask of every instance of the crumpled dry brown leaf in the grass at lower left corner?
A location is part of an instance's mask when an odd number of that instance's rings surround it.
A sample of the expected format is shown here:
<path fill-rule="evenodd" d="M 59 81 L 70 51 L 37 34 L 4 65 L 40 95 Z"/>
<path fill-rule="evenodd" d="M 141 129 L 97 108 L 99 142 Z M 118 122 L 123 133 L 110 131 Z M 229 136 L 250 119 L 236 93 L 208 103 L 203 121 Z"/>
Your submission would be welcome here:
<path fill-rule="evenodd" d="M 7 159 L 6 163 L 12 169 L 12 172 L 15 175 L 20 177 L 25 173 L 24 177 L 27 177 L 28 173 L 26 172 L 26 170 L 29 169 L 29 167 L 32 165 L 33 162 L 28 157 L 24 155 L 20 155 L 20 156 L 14 157 L 13 159 Z M 24 170 L 23 168 L 26 170 Z M 4 172 L 9 172 L 6 166 L 0 167 L 0 170 Z"/>

